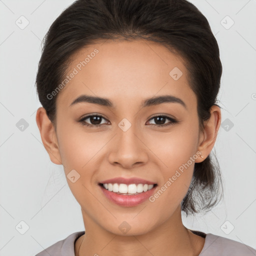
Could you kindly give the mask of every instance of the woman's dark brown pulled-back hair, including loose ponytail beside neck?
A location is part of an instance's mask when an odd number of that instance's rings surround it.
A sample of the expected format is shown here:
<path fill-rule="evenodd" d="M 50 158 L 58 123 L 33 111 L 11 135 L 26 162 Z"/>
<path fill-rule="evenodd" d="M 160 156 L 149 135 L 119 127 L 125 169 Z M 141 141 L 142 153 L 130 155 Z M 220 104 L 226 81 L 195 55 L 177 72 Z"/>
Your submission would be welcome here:
<path fill-rule="evenodd" d="M 107 39 L 159 42 L 180 56 L 203 130 L 211 106 L 217 105 L 222 65 L 207 19 L 186 0 L 76 0 L 64 9 L 43 38 L 36 74 L 39 101 L 54 127 L 57 95 L 48 99 L 47 94 L 64 79 L 76 51 Z M 211 152 L 194 164 L 181 210 L 186 215 L 209 211 L 221 199 L 222 190 L 219 165 Z"/>

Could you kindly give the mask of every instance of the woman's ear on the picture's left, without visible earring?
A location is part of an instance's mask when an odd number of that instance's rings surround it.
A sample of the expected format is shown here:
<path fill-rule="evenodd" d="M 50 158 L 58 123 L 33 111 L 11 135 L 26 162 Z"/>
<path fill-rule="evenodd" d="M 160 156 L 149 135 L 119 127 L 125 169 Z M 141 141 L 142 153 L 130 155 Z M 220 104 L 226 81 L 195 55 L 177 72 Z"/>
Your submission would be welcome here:
<path fill-rule="evenodd" d="M 56 132 L 46 114 L 45 108 L 39 107 L 37 109 L 36 123 L 41 134 L 42 143 L 49 154 L 50 160 L 55 164 L 62 164 Z"/>

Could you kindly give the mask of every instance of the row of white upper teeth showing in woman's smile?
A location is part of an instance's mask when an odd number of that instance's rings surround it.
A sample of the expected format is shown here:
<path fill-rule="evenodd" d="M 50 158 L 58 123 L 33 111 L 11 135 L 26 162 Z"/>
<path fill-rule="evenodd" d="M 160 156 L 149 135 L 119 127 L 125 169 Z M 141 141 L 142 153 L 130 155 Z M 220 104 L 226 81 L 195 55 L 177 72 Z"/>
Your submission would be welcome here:
<path fill-rule="evenodd" d="M 104 183 L 103 187 L 107 189 L 108 191 L 113 191 L 115 193 L 122 193 L 122 194 L 137 194 L 141 192 L 146 192 L 147 190 L 150 190 L 153 185 L 150 184 L 117 184 L 117 183 Z"/>

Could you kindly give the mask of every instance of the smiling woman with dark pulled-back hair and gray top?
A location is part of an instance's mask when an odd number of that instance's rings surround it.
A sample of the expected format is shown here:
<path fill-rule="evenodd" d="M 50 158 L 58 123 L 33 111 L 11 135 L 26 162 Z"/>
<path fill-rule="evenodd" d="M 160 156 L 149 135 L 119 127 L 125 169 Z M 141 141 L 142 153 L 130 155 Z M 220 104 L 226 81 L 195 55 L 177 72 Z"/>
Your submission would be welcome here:
<path fill-rule="evenodd" d="M 77 0 L 65 9 L 44 41 L 36 122 L 85 232 L 37 255 L 255 255 L 181 220 L 222 195 L 210 155 L 221 72 L 208 21 L 185 0 Z"/>

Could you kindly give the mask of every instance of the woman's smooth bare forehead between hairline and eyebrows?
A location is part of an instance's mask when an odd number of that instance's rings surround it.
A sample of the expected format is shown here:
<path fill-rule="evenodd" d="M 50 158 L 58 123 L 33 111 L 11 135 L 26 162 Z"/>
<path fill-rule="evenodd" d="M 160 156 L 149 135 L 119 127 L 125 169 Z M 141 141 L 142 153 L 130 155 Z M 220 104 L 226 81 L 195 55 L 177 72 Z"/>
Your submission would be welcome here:
<path fill-rule="evenodd" d="M 69 105 L 82 93 L 132 102 L 166 93 L 193 96 L 183 59 L 164 45 L 147 40 L 87 45 L 72 55 L 66 74 L 69 77 L 57 105 Z"/>

